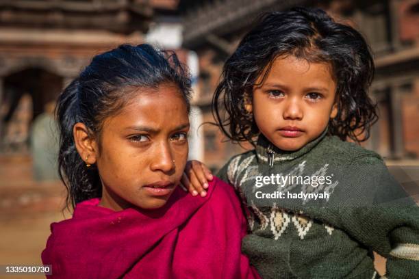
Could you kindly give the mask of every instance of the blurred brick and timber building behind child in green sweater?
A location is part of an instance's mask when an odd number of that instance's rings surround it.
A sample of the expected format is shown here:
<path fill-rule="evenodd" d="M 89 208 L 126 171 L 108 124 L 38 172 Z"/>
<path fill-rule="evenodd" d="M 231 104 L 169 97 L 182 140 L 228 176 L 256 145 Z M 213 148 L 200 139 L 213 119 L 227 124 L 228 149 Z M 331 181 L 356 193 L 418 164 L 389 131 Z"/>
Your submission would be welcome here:
<path fill-rule="evenodd" d="M 213 121 L 212 94 L 223 62 L 251 24 L 265 11 L 295 5 L 316 6 L 361 31 L 374 52 L 377 72 L 370 94 L 377 100 L 379 122 L 366 148 L 388 159 L 419 156 L 419 1 L 413 0 L 181 0 L 183 46 L 199 55 L 199 96 L 204 121 Z M 205 163 L 219 168 L 238 145 L 222 143 L 217 127 L 203 125 Z M 244 144 L 246 147 L 246 144 Z M 247 146 L 249 147 L 249 146 Z"/>

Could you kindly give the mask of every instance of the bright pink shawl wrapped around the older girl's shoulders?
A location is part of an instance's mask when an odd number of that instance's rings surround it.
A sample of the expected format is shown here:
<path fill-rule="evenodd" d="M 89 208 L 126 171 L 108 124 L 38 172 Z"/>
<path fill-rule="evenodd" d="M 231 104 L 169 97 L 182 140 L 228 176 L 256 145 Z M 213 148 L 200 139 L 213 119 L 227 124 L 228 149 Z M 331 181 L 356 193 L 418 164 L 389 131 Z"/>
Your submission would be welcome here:
<path fill-rule="evenodd" d="M 241 254 L 246 220 L 218 178 L 205 198 L 179 187 L 161 209 L 112 211 L 99 199 L 51 224 L 42 262 L 49 278 L 259 278 Z"/>

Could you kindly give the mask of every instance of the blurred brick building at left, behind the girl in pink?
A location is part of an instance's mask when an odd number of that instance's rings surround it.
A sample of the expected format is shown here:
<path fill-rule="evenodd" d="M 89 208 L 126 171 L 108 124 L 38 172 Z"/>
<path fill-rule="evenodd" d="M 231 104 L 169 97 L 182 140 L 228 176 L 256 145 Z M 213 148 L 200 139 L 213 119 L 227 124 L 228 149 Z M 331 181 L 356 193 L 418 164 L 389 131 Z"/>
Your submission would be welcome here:
<path fill-rule="evenodd" d="M 144 41 L 177 0 L 0 1 L 0 152 L 25 152 L 32 120 L 93 55 Z"/>

